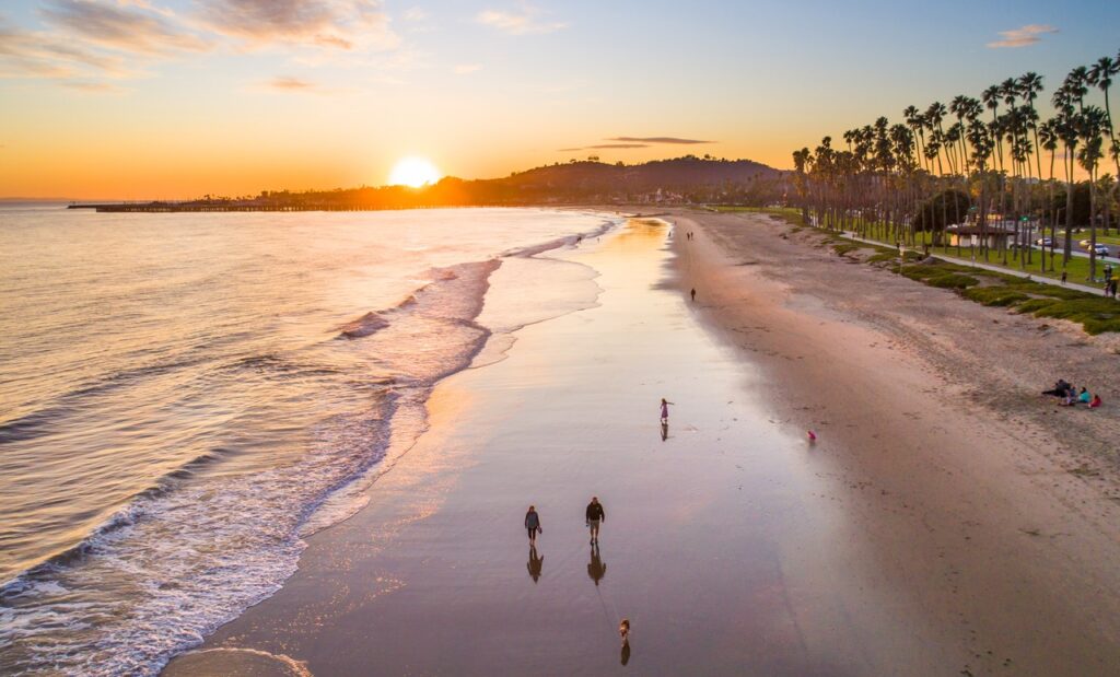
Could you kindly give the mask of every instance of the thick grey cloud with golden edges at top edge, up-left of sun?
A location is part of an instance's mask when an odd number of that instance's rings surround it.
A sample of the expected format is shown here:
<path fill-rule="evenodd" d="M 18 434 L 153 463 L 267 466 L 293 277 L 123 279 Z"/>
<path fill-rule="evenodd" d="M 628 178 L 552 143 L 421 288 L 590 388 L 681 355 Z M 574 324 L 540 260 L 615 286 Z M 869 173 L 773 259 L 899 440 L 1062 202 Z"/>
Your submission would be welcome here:
<path fill-rule="evenodd" d="M 250 46 L 390 49 L 400 38 L 375 0 L 197 0 L 204 25 Z"/>

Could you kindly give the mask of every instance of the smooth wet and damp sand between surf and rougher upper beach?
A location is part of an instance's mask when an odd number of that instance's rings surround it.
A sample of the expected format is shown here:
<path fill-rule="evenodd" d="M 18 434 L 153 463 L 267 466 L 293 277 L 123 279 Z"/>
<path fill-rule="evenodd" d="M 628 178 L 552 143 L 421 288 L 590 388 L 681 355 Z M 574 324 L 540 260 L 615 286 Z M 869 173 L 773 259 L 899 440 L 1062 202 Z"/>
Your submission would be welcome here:
<path fill-rule="evenodd" d="M 1024 472 L 1033 438 L 945 402 L 936 371 L 874 326 L 671 220 L 675 266 L 668 229 L 637 223 L 573 254 L 600 273 L 599 305 L 440 383 L 429 432 L 370 504 L 311 537 L 287 585 L 205 648 L 318 676 L 1120 665 L 1112 503 L 1081 503 L 1091 488 L 1068 473 Z M 675 402 L 664 439 L 661 397 Z M 228 674 L 235 655 L 166 673 Z"/>

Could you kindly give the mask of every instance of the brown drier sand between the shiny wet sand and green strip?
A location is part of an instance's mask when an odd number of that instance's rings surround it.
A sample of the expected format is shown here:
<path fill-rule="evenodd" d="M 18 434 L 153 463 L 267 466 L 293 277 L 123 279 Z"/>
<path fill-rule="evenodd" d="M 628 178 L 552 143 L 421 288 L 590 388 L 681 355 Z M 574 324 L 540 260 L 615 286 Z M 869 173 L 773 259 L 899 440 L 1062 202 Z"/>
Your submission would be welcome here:
<path fill-rule="evenodd" d="M 765 214 L 674 216 L 696 233 L 676 242 L 681 293 L 697 288 L 701 321 L 767 374 L 787 425 L 836 454 L 853 538 L 895 563 L 893 586 L 961 624 L 973 659 L 960 669 L 1107 674 L 1120 657 L 1118 417 L 1038 392 L 1045 371 L 1084 380 L 1109 337 L 924 287 Z M 1114 374 L 1109 361 L 1100 388 Z M 1088 624 L 1096 638 L 1072 637 Z"/>

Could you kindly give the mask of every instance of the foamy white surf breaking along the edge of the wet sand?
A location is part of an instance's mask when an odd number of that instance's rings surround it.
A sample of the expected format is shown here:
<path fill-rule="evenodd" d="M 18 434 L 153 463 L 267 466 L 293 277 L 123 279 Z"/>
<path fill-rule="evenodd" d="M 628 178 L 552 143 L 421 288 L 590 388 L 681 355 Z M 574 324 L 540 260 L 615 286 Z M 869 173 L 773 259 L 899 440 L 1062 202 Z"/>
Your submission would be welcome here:
<path fill-rule="evenodd" d="M 572 247 L 578 238 L 504 257 Z M 386 470 L 391 445 L 408 448 L 424 429 L 435 384 L 467 368 L 491 340 L 492 328 L 478 316 L 502 265 L 494 258 L 432 269 L 430 281 L 400 304 L 338 327 L 338 336 L 358 341 L 328 343 L 368 355 L 384 372 L 375 380 L 276 353 L 218 365 L 264 374 L 321 369 L 335 373 L 338 386 L 375 395 L 363 400 L 364 409 L 321 421 L 298 461 L 230 476 L 207 472 L 233 453 L 214 446 L 134 495 L 77 546 L 4 584 L 4 673 L 156 675 L 172 656 L 279 590 L 297 568 L 304 538 L 361 509 L 366 489 Z M 120 378 L 146 373 L 133 371 Z M 32 418 L 24 425 L 43 424 Z M 403 451 L 392 453 L 389 464 Z"/>

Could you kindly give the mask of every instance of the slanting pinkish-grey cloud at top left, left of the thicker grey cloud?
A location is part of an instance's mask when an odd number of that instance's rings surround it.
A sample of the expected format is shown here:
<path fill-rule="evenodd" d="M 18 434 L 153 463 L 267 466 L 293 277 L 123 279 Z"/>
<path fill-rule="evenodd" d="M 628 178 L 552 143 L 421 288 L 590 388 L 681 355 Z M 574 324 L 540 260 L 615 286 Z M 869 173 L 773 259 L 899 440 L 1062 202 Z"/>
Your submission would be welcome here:
<path fill-rule="evenodd" d="M 52 0 L 39 13 L 71 36 L 120 52 L 156 55 L 209 47 L 147 6 Z"/>

